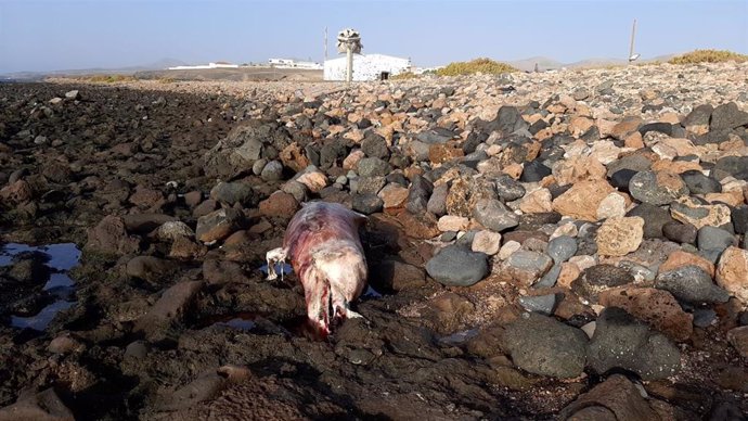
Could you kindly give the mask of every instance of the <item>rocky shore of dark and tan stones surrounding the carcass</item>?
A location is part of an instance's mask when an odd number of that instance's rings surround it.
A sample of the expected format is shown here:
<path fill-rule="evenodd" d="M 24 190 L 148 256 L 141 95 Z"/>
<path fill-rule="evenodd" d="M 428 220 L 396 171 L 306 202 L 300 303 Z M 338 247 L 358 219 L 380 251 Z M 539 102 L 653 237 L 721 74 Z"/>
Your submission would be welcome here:
<path fill-rule="evenodd" d="M 0 85 L 0 420 L 741 419 L 747 84 Z M 324 341 L 262 268 L 313 200 L 369 216 Z"/>

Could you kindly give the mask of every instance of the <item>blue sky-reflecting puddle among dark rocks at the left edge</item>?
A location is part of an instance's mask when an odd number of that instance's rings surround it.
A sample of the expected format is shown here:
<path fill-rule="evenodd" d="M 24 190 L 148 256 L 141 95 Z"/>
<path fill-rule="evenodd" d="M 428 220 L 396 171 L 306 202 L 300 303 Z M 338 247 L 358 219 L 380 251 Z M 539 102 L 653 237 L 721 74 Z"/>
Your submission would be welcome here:
<path fill-rule="evenodd" d="M 67 275 L 80 260 L 80 250 L 75 243 L 48 244 L 33 246 L 20 243 L 7 243 L 0 246 L 0 266 L 14 264 L 14 257 L 22 253 L 38 253 L 50 276 L 43 291 L 56 297 L 56 301 L 29 317 L 11 315 L 11 327 L 43 331 L 57 312 L 73 307 L 75 282 Z"/>

